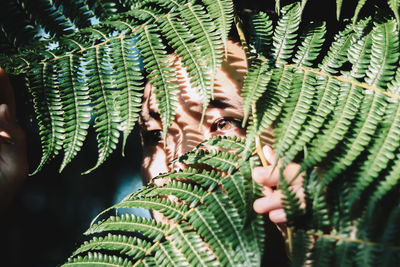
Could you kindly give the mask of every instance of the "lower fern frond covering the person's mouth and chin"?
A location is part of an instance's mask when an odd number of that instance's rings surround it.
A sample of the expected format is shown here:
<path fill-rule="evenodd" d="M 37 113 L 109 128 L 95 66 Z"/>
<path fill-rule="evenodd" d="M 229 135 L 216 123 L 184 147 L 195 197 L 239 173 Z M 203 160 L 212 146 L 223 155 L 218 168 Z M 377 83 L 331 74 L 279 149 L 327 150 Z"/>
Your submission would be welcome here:
<path fill-rule="evenodd" d="M 237 149 L 236 138 L 214 138 L 224 150 Z M 242 147 L 244 147 L 244 140 Z M 240 167 L 230 169 L 232 174 L 217 171 L 221 161 L 239 162 L 234 152 L 192 152 L 179 161 L 194 164 L 194 167 L 160 175 L 164 184 L 156 186 L 150 183 L 137 193 L 127 196 L 121 203 L 113 206 L 116 210 L 125 207 L 142 207 L 157 210 L 169 223 L 157 223 L 153 219 L 144 219 L 134 215 L 122 214 L 93 224 L 87 235 L 94 236 L 82 244 L 65 265 L 85 260 L 92 255 L 111 259 L 108 255 L 118 252 L 125 260 L 137 261 L 135 264 L 151 260 L 158 264 L 176 266 L 260 266 L 264 247 L 264 222 L 247 203 L 259 196 L 260 188 L 253 185 L 246 169 L 257 161 L 241 161 Z M 213 157 L 209 157 L 213 155 Z M 192 161 L 188 162 L 188 158 Z M 196 158 L 196 161 L 193 159 Z M 197 163 L 213 167 L 207 172 Z M 223 167 L 223 170 L 227 168 Z M 209 183 L 214 180 L 218 183 Z M 166 178 L 170 181 L 166 181 Z M 235 180 L 243 187 L 244 201 L 237 203 L 236 188 L 229 181 Z M 245 188 L 254 187 L 254 190 Z M 171 201 L 167 196 L 174 196 Z M 246 213 L 247 216 L 242 216 Z M 118 232 L 119 235 L 113 234 Z M 173 241 L 173 242 L 171 242 Z M 207 245 L 206 245 L 207 244 Z M 91 254 L 91 251 L 101 251 Z M 172 253 L 173 252 L 173 253 Z M 100 254 L 101 253 L 101 254 Z M 122 264 L 119 258 L 112 259 L 114 264 Z"/>

